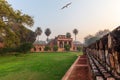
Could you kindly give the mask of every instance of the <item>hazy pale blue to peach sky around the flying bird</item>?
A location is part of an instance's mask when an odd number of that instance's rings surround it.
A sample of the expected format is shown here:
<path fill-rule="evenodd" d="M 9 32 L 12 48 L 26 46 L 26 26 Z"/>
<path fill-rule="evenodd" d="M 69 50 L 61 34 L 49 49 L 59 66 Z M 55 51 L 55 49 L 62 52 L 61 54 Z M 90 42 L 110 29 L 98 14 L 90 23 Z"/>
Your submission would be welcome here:
<path fill-rule="evenodd" d="M 113 30 L 120 25 L 120 0 L 7 0 L 14 9 L 34 17 L 31 28 L 41 27 L 41 40 L 46 40 L 44 30 L 50 28 L 54 38 L 58 34 L 77 28 L 77 40 L 83 42 L 88 34 L 99 30 Z M 72 4 L 63 10 L 65 4 Z"/>

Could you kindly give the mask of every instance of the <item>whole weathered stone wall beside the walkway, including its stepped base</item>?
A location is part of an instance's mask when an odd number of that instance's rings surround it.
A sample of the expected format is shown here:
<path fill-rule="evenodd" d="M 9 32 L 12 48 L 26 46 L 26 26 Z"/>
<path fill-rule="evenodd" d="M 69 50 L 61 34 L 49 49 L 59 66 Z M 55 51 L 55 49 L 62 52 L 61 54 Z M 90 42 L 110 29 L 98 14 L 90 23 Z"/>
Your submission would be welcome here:
<path fill-rule="evenodd" d="M 94 80 L 120 80 L 120 26 L 89 45 L 85 52 Z"/>

